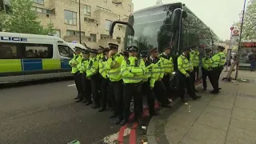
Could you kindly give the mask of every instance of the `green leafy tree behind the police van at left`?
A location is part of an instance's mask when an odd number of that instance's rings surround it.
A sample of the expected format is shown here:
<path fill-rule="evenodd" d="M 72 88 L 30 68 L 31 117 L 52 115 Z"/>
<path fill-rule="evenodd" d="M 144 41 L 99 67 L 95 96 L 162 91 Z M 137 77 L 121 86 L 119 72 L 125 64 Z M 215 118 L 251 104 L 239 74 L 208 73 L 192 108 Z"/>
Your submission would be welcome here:
<path fill-rule="evenodd" d="M 50 22 L 46 28 L 38 22 L 38 16 L 33 8 L 31 0 L 10 0 L 10 11 L 8 19 L 3 23 L 2 28 L 8 32 L 23 34 L 48 34 L 53 30 Z"/>

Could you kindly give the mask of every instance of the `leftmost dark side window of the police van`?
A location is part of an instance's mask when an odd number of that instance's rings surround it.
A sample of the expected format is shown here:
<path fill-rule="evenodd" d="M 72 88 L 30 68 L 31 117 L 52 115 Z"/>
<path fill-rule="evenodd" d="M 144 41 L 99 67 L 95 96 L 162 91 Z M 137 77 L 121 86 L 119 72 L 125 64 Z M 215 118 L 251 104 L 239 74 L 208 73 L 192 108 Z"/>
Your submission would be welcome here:
<path fill-rule="evenodd" d="M 18 44 L 0 42 L 0 59 L 19 59 L 21 53 L 18 53 Z"/>

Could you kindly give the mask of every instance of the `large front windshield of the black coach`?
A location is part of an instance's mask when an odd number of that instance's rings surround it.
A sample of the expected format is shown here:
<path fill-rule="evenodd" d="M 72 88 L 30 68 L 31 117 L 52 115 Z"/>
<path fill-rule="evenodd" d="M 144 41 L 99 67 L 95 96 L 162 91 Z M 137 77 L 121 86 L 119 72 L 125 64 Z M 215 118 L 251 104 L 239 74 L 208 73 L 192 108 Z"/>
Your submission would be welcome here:
<path fill-rule="evenodd" d="M 127 26 L 125 48 L 131 45 L 138 46 L 139 50 L 166 46 L 170 44 L 173 34 L 170 31 L 170 15 L 181 4 L 158 6 L 156 8 L 138 11 L 130 15 L 128 23 L 134 27 L 134 37 Z"/>

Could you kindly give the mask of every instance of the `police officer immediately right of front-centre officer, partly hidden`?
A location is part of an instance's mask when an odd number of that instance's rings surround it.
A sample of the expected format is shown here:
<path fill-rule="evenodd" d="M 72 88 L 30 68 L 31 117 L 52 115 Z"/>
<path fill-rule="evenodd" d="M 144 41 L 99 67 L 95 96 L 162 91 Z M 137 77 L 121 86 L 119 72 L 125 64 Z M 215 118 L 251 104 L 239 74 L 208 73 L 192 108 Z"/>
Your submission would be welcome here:
<path fill-rule="evenodd" d="M 146 94 L 147 106 L 150 111 L 150 116 L 152 117 L 158 115 L 158 112 L 154 110 L 154 63 L 147 60 L 148 53 L 146 51 L 142 51 L 140 57 L 146 66 L 145 74 L 142 79 L 142 94 Z"/>

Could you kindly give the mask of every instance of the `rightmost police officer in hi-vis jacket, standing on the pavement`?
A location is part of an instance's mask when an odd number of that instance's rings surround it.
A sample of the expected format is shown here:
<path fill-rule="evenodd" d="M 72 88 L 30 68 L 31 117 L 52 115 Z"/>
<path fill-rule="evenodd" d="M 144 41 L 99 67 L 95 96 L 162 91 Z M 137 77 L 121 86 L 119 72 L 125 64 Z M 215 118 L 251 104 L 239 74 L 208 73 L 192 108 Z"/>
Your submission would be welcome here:
<path fill-rule="evenodd" d="M 214 90 L 210 91 L 212 94 L 218 94 L 220 90 L 218 87 L 218 79 L 226 62 L 226 55 L 224 54 L 223 50 L 225 50 L 225 47 L 218 46 L 218 53 L 214 54 L 214 56 L 210 58 L 212 67 L 212 70 L 210 71 L 210 82 L 214 87 Z"/>

